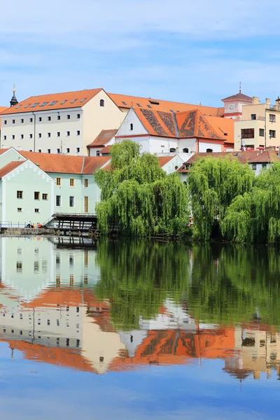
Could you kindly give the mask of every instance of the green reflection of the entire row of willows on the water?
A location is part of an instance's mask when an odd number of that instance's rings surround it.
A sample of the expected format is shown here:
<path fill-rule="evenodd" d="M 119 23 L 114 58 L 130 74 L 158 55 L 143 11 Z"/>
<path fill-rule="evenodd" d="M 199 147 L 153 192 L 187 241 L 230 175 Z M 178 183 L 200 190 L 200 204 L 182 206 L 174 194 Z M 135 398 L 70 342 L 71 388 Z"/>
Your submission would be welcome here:
<path fill-rule="evenodd" d="M 100 241 L 101 279 L 116 328 L 139 328 L 167 298 L 208 323 L 280 325 L 280 258 L 274 248 Z M 188 304 L 186 304 L 188 302 Z"/>

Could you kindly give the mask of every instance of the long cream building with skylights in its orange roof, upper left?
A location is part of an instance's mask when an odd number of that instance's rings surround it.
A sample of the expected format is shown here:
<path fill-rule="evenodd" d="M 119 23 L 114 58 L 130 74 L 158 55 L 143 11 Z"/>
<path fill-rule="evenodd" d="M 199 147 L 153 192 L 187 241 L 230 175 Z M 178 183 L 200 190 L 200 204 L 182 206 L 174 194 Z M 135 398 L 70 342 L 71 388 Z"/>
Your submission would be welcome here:
<path fill-rule="evenodd" d="M 103 89 L 29 97 L 3 110 L 1 148 L 87 155 L 104 129 L 120 127 L 125 113 Z"/>

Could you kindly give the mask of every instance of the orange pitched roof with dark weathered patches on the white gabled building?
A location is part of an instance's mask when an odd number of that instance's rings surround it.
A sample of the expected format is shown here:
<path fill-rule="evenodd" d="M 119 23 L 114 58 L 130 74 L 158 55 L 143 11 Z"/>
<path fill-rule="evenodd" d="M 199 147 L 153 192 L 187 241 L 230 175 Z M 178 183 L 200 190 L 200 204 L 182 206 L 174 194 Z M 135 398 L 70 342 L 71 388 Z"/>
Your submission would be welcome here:
<path fill-rule="evenodd" d="M 211 126 L 207 117 L 198 110 L 186 111 L 178 114 L 151 109 L 133 108 L 139 120 L 149 134 L 160 137 L 183 139 L 200 137 L 225 141 L 221 130 L 218 134 Z"/>

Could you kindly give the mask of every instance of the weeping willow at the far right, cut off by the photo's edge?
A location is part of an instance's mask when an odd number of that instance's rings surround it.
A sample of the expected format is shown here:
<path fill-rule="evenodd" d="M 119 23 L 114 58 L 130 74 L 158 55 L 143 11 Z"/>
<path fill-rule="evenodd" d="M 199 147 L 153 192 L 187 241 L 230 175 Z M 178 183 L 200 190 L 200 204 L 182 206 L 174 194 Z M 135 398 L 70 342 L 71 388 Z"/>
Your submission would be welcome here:
<path fill-rule="evenodd" d="M 280 162 L 263 170 L 253 189 L 233 200 L 221 228 L 237 242 L 280 242 Z"/>

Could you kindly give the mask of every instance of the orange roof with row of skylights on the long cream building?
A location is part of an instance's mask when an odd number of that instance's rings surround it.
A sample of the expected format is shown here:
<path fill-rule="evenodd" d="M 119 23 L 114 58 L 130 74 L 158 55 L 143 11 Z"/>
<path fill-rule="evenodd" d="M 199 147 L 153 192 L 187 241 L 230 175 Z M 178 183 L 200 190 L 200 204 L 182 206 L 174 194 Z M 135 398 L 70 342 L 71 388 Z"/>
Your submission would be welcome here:
<path fill-rule="evenodd" d="M 39 96 L 29 97 L 24 101 L 19 102 L 18 105 L 3 110 L 1 115 L 81 107 L 101 90 L 102 89 L 85 89 L 75 92 L 41 94 Z"/>

